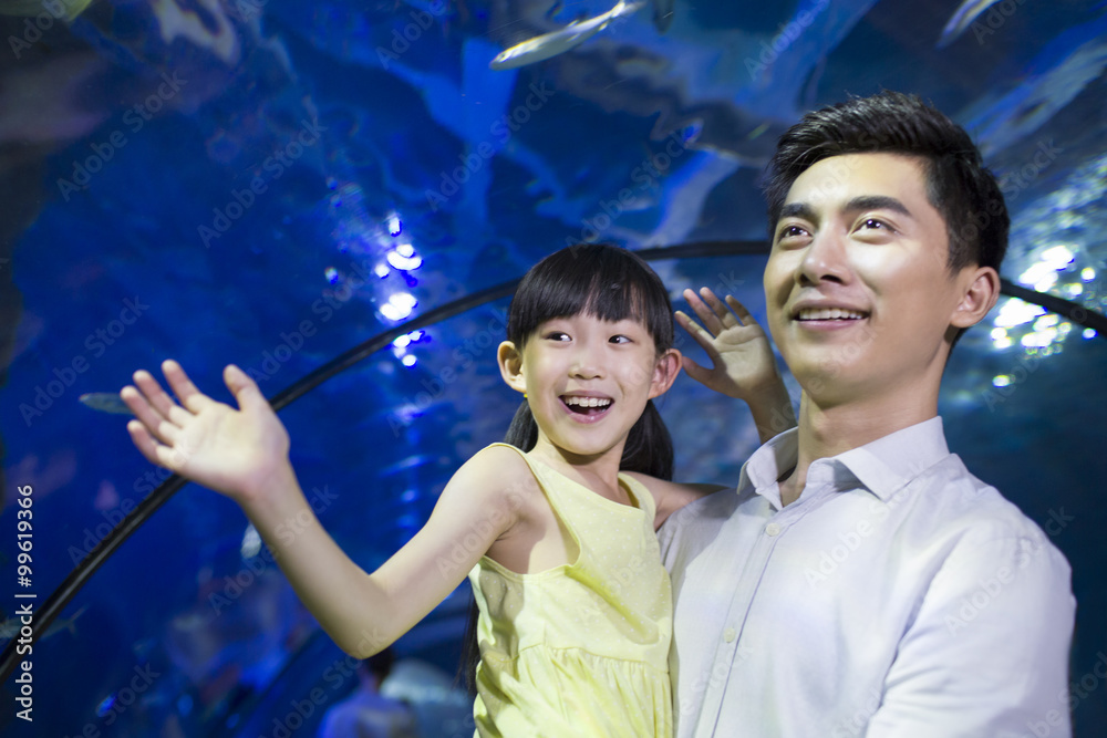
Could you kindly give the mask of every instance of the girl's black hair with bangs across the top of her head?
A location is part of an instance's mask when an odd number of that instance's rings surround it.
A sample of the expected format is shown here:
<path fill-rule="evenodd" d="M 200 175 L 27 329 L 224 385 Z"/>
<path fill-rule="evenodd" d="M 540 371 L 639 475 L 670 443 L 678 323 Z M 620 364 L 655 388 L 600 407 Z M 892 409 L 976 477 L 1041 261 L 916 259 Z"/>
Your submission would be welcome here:
<path fill-rule="evenodd" d="M 637 320 L 659 352 L 673 343 L 669 292 L 649 264 L 624 249 L 580 245 L 538 262 L 511 300 L 507 337 L 521 349 L 546 321 L 579 314 Z"/>

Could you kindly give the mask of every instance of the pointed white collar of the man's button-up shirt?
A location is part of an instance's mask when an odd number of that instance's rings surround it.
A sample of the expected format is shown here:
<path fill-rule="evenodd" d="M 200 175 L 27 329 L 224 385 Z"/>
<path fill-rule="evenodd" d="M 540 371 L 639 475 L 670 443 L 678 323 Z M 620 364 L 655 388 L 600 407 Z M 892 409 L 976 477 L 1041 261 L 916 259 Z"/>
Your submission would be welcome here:
<path fill-rule="evenodd" d="M 811 467 L 829 466 L 836 480 L 846 476 L 856 478 L 870 492 L 886 500 L 949 454 L 942 418 L 935 416 L 838 456 L 818 459 Z M 738 493 L 749 487 L 758 495 L 775 489 L 776 480 L 796 466 L 798 457 L 798 428 L 774 436 L 742 466 Z"/>

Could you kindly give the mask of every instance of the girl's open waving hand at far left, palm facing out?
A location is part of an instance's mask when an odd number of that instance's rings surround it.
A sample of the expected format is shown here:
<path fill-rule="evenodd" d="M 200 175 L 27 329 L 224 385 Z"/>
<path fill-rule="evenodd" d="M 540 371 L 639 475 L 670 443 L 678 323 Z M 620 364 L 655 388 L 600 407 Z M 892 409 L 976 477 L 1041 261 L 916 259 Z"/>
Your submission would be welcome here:
<path fill-rule="evenodd" d="M 238 409 L 203 394 L 175 361 L 164 362 L 162 372 L 179 405 L 142 370 L 134 374 L 136 387 L 120 392 L 137 418 L 127 423 L 131 439 L 151 462 L 240 502 L 288 464 L 288 432 L 240 368 L 223 373 Z"/>

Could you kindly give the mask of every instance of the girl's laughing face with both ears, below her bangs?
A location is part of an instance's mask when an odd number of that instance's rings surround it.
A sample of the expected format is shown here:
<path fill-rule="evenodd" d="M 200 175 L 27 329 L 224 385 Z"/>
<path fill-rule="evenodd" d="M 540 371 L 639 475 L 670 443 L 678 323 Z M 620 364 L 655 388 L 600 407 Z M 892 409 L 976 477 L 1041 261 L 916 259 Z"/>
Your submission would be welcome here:
<path fill-rule="evenodd" d="M 638 320 L 577 314 L 541 323 L 523 351 L 505 341 L 499 363 L 504 381 L 527 394 L 538 447 L 548 443 L 570 461 L 584 461 L 609 453 L 622 458 L 646 401 L 676 378 L 680 352 L 659 356 Z"/>

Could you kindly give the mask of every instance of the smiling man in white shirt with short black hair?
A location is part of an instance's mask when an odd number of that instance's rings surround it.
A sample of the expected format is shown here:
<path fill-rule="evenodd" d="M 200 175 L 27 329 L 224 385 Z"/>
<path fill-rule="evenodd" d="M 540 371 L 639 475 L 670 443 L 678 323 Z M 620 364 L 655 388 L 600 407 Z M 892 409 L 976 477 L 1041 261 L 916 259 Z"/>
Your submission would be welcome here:
<path fill-rule="evenodd" d="M 808 114 L 770 166 L 765 297 L 799 426 L 661 529 L 676 735 L 1069 735 L 1068 564 L 938 417 L 999 295 L 995 179 L 896 93 Z"/>

